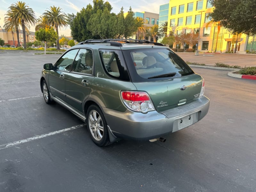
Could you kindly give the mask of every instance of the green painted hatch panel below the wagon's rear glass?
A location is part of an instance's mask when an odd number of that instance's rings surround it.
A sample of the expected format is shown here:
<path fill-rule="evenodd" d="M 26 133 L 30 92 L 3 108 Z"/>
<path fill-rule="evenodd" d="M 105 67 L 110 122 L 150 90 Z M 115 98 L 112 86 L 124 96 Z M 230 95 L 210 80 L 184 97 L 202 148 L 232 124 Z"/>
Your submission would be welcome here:
<path fill-rule="evenodd" d="M 149 94 L 158 112 L 185 105 L 199 97 L 202 77 L 191 74 L 179 78 L 133 83 L 138 91 Z"/>

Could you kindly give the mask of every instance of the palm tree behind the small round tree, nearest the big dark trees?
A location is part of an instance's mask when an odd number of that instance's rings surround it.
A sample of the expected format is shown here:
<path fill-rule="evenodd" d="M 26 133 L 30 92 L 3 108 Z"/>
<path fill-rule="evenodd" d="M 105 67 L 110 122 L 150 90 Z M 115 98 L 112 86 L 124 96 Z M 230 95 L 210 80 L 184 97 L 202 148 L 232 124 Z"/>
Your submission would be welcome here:
<path fill-rule="evenodd" d="M 68 17 L 64 12 L 60 11 L 60 7 L 51 6 L 49 10 L 45 10 L 43 13 L 46 24 L 55 28 L 57 35 L 59 36 L 59 27 L 68 26 Z M 57 49 L 60 49 L 59 39 L 56 41 Z"/>

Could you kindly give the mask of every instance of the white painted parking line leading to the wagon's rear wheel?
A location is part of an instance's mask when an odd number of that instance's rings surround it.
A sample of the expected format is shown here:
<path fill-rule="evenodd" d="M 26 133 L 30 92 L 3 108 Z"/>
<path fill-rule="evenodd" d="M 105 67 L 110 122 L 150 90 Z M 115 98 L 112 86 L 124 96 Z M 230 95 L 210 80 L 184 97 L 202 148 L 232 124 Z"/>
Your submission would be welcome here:
<path fill-rule="evenodd" d="M 0 150 L 1 149 L 6 149 L 6 148 L 9 148 L 9 147 L 14 147 L 16 145 L 20 145 L 22 143 L 27 143 L 27 142 L 30 142 L 30 141 L 33 141 L 33 140 L 42 139 L 44 137 L 48 137 L 48 136 L 51 136 L 51 135 L 56 135 L 56 134 L 59 134 L 59 133 L 67 132 L 67 131 L 74 130 L 74 129 L 77 129 L 77 128 L 81 128 L 81 127 L 84 127 L 85 125 L 86 124 L 80 124 L 80 125 L 76 125 L 76 126 L 73 126 L 73 127 L 61 129 L 59 131 L 49 132 L 49 133 L 46 133 L 46 134 L 42 134 L 42 135 L 38 135 L 38 136 L 34 136 L 34 137 L 29 137 L 27 139 L 14 141 L 14 142 L 11 142 L 11 143 L 6 143 L 6 144 L 3 144 L 3 145 L 0 145 Z"/>

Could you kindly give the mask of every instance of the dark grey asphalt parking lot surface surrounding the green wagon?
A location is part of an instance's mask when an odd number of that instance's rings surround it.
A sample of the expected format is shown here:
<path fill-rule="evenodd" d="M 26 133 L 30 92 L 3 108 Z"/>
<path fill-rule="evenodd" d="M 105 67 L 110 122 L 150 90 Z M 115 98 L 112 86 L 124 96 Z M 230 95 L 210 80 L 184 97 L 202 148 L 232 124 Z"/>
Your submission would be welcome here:
<path fill-rule="evenodd" d="M 203 120 L 165 143 L 121 140 L 100 148 L 80 119 L 44 102 L 40 72 L 58 57 L 0 53 L 1 192 L 256 191 L 255 80 L 193 68 L 211 100 Z"/>

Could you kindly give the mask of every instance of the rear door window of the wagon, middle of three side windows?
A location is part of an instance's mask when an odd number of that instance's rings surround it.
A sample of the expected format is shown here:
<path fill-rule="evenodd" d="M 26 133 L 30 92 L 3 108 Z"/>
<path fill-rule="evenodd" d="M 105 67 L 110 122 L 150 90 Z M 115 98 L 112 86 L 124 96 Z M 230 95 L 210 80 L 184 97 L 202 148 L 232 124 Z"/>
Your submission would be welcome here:
<path fill-rule="evenodd" d="M 72 65 L 71 71 L 92 74 L 93 55 L 90 49 L 80 49 Z"/>

